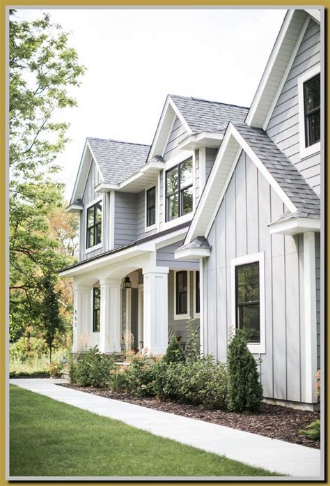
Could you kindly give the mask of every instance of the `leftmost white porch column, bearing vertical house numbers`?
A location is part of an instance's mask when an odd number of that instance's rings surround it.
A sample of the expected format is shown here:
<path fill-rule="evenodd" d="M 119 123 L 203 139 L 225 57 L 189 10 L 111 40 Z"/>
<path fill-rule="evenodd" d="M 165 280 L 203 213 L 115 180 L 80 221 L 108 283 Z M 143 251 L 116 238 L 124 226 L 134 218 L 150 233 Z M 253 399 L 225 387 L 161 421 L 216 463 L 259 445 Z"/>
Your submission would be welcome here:
<path fill-rule="evenodd" d="M 91 287 L 73 284 L 73 344 L 79 351 L 88 339 L 91 329 Z M 87 344 L 87 341 L 86 343 Z"/>

